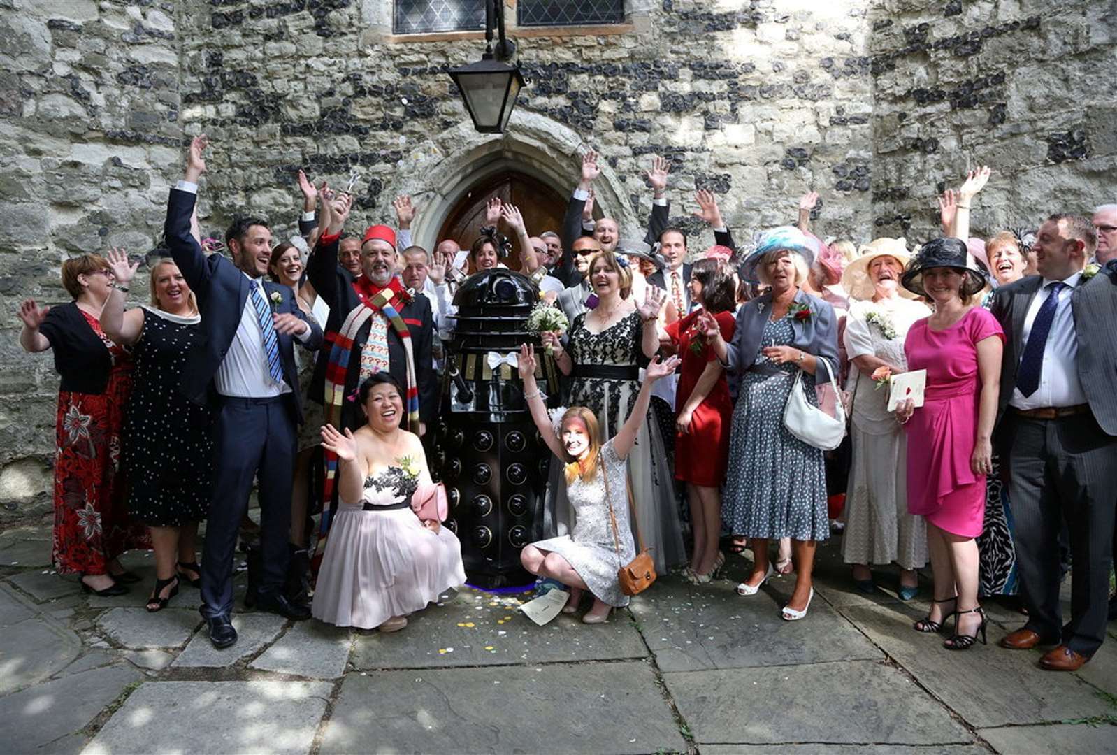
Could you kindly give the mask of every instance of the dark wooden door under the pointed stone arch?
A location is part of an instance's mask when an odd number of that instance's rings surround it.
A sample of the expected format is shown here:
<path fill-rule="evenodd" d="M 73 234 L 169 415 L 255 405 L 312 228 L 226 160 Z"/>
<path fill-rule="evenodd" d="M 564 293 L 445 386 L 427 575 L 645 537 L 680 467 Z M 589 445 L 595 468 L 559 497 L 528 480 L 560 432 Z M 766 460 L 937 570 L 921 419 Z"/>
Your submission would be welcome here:
<path fill-rule="evenodd" d="M 542 181 L 519 171 L 495 173 L 469 188 L 457 204 L 450 209 L 438 231 L 438 239 L 454 239 L 462 249 L 468 249 L 485 224 L 485 204 L 498 197 L 519 208 L 527 232 L 538 236 L 543 231 L 562 232 L 562 219 L 566 213 L 567 200 Z M 508 236 L 508 228 L 502 223 L 500 232 Z M 518 239 L 513 239 L 512 257 L 504 264 L 514 270 L 521 268 Z M 470 270 L 472 271 L 472 270 Z"/>

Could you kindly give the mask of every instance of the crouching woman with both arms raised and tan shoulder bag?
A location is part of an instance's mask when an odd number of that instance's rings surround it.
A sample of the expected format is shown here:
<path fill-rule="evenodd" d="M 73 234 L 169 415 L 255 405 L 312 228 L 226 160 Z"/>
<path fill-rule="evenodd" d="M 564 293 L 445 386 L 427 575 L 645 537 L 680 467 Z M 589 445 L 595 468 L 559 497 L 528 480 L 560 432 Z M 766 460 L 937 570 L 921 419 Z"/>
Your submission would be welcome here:
<path fill-rule="evenodd" d="M 628 595 L 617 580 L 620 567 L 636 557 L 629 528 L 626 459 L 648 414 L 652 383 L 674 373 L 678 364 L 678 357 L 672 356 L 663 363 L 657 357 L 648 365 L 632 412 L 620 432 L 602 445 L 598 418 L 585 407 L 571 407 L 557 427 L 552 424 L 535 384 L 535 348 L 521 347 L 524 398 L 547 448 L 566 462 L 566 498 L 574 509 L 574 527 L 570 535 L 532 543 L 519 558 L 532 574 L 571 587 L 565 613 L 577 609 L 584 590 L 593 593 L 593 608 L 582 617 L 584 623 L 601 623 L 613 608 L 628 605 Z"/>

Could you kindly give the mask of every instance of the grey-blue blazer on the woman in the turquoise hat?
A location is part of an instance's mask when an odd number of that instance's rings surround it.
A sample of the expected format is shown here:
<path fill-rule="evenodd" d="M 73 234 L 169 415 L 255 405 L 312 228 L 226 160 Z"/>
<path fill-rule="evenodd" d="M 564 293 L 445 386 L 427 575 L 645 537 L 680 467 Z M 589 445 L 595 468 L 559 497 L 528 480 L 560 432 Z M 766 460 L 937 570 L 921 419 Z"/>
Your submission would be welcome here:
<path fill-rule="evenodd" d="M 793 319 L 792 329 L 795 337 L 791 345 L 815 359 L 827 360 L 833 374 L 838 374 L 838 318 L 834 308 L 828 303 L 811 296 L 803 289 L 795 294 L 795 302 L 805 304 L 811 309 L 811 316 L 804 321 Z M 761 350 L 761 337 L 764 335 L 764 324 L 772 316 L 772 294 L 763 294 L 741 305 L 737 310 L 736 329 L 733 332 L 733 343 L 726 354 L 726 370 L 738 373 L 746 372 L 756 360 Z M 829 382 L 825 369 L 814 371 L 817 383 Z"/>

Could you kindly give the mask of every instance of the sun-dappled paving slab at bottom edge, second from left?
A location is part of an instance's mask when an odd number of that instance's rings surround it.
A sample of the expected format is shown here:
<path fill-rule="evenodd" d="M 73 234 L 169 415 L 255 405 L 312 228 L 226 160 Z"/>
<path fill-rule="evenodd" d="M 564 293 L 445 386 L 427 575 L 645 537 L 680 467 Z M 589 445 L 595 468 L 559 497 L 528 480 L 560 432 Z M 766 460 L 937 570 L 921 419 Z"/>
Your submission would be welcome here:
<path fill-rule="evenodd" d="M 321 681 L 149 681 L 84 752 L 300 755 L 311 749 L 330 691 Z"/>

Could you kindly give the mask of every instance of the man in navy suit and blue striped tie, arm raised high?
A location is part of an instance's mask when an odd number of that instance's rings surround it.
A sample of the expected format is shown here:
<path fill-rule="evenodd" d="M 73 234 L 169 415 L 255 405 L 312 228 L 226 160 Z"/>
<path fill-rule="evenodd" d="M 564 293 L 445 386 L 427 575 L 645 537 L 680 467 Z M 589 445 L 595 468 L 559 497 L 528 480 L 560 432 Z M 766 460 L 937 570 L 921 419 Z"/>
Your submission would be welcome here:
<path fill-rule="evenodd" d="M 190 233 L 190 216 L 208 141 L 190 144 L 182 181 L 166 206 L 168 246 L 198 297 L 204 338 L 182 371 L 182 391 L 218 410 L 217 476 L 202 554 L 201 613 L 210 641 L 227 648 L 232 628 L 232 557 L 237 528 L 248 508 L 252 478 L 260 482 L 260 547 L 264 574 L 257 604 L 288 619 L 307 619 L 305 605 L 283 592 L 290 528 L 295 430 L 302 422 L 293 340 L 307 348 L 322 345 L 322 329 L 303 315 L 287 286 L 265 279 L 271 231 L 259 219 L 238 220 L 226 232 L 232 261 L 207 257 Z"/>

